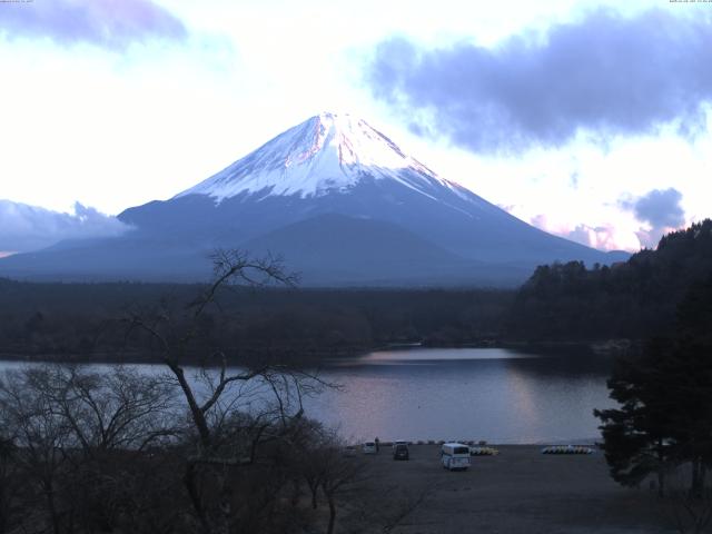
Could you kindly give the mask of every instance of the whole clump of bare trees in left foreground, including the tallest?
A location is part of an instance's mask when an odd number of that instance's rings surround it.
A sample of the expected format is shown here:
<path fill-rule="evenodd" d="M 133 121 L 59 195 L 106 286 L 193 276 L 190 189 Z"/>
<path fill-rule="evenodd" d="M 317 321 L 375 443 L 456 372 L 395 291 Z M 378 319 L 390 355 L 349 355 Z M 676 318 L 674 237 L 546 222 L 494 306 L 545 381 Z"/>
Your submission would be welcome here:
<path fill-rule="evenodd" d="M 348 473 L 303 404 L 328 385 L 284 354 L 230 367 L 239 346 L 210 336 L 231 281 L 291 278 L 239 253 L 215 260 L 197 299 L 128 318 L 127 346 L 165 367 L 30 365 L 0 376 L 0 534 L 313 532 L 322 516 L 300 492 L 304 465 L 319 466 L 334 528 Z"/>

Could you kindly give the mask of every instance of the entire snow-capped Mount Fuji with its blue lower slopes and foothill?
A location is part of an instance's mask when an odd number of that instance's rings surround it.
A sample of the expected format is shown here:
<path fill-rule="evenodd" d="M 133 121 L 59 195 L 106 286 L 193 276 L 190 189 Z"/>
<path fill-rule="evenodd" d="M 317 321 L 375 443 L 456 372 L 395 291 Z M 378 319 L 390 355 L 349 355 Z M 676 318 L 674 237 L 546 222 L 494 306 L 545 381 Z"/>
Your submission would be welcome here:
<path fill-rule="evenodd" d="M 540 264 L 610 264 L 439 177 L 349 115 L 322 113 L 165 201 L 129 208 L 120 237 L 0 260 L 29 279 L 204 280 L 217 247 L 281 255 L 305 285 L 522 283 Z"/>

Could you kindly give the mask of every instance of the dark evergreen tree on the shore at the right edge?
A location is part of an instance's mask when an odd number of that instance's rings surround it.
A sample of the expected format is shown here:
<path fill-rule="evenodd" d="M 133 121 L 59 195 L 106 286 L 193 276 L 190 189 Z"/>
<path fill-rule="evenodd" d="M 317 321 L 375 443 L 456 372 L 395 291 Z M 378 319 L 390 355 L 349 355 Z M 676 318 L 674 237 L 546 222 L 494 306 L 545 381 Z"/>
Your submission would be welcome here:
<path fill-rule="evenodd" d="M 702 495 L 712 465 L 712 278 L 692 289 L 678 308 L 676 334 L 655 338 L 619 358 L 609 380 L 619 408 L 601 418 L 613 478 L 637 485 L 656 474 L 690 466 L 690 491 Z"/>

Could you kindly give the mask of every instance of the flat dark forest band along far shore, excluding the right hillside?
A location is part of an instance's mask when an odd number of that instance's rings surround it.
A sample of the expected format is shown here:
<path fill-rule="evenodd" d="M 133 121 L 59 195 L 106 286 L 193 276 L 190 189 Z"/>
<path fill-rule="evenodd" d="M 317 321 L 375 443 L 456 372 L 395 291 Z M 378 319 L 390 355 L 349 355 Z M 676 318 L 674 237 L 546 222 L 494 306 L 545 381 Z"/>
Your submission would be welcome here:
<path fill-rule="evenodd" d="M 202 285 L 37 284 L 0 279 L 0 355 L 19 358 L 155 359 L 122 319 L 157 303 L 179 316 Z M 200 318 L 210 343 L 243 356 L 356 354 L 389 344 L 461 345 L 496 338 L 513 291 L 233 287 Z M 198 356 L 199 357 L 199 356 Z M 241 356 L 230 354 L 231 358 Z"/>

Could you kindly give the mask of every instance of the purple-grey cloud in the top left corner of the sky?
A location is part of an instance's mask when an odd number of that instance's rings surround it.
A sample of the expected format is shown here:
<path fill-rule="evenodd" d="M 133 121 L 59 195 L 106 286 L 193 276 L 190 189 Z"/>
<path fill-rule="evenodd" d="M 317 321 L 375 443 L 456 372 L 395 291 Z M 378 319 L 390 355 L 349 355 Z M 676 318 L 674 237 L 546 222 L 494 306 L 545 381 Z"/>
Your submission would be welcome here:
<path fill-rule="evenodd" d="M 0 6 L 0 34 L 121 50 L 151 38 L 182 40 L 182 22 L 151 0 L 51 0 Z"/>

